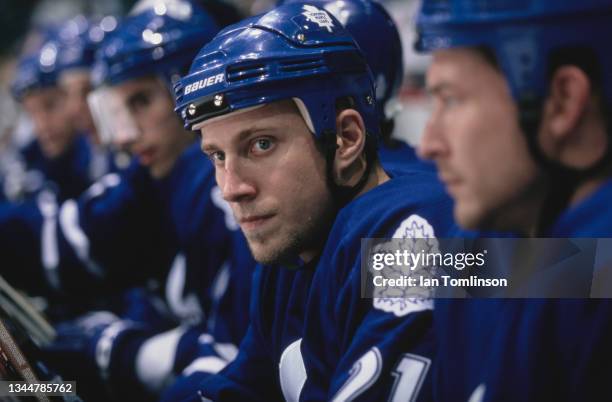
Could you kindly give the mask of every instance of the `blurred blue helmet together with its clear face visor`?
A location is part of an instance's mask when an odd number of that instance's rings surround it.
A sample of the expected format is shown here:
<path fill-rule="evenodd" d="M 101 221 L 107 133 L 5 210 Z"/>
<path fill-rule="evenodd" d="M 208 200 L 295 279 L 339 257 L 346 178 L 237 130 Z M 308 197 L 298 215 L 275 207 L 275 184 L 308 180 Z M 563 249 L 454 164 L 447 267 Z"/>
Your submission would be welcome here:
<path fill-rule="evenodd" d="M 189 1 L 147 1 L 137 6 L 96 52 L 92 81 L 98 88 L 87 101 L 105 143 L 139 135 L 113 86 L 159 76 L 172 92 L 172 83 L 189 69 L 197 51 L 219 30 L 208 13 Z"/>

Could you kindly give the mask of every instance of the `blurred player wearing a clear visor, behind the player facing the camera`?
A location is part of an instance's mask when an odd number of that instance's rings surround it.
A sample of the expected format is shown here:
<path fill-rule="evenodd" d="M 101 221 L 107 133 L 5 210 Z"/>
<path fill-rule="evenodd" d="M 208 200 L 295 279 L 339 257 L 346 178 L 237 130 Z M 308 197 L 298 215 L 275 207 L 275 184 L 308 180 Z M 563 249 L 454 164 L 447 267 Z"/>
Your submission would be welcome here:
<path fill-rule="evenodd" d="M 105 124 L 98 132 L 110 128 L 107 134 L 138 161 L 26 222 L 41 236 L 43 268 L 33 264 L 36 272 L 26 272 L 46 278 L 72 303 L 147 285 L 113 311 L 57 327 L 47 361 L 65 378 L 83 381 L 89 398 L 108 397 L 97 394 L 101 380 L 116 397 L 155 398 L 188 365 L 191 372 L 219 370 L 245 331 L 253 262 L 240 248 L 244 240 L 217 193 L 212 166 L 174 114 L 170 92 L 216 31 L 191 3 L 158 2 L 105 39 L 104 85 L 93 95 L 114 109 L 97 116 Z M 10 227 L 2 228 L 7 236 L 15 233 Z M 24 273 L 7 275 L 31 288 L 17 278 Z M 202 356 L 212 363 L 202 364 Z"/>

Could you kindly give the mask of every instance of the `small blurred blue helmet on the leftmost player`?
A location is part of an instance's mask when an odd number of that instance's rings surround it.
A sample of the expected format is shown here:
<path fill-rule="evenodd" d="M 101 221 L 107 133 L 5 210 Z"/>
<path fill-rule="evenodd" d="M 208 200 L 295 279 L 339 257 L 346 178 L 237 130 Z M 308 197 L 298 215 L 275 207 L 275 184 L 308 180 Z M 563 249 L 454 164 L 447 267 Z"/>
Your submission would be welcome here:
<path fill-rule="evenodd" d="M 32 90 L 57 86 L 58 42 L 49 40 L 40 49 L 24 55 L 17 63 L 11 93 L 17 100 Z"/>

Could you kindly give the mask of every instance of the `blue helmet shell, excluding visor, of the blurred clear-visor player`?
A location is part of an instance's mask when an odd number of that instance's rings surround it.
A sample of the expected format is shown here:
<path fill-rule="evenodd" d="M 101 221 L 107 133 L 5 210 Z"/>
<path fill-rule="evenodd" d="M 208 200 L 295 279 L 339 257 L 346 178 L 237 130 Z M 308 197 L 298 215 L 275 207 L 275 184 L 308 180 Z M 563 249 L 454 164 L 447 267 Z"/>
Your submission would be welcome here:
<path fill-rule="evenodd" d="M 214 19 L 189 1 L 151 2 L 138 11 L 103 41 L 96 83 L 114 85 L 150 74 L 172 82 L 219 31 Z"/>

